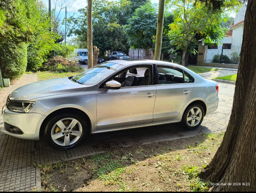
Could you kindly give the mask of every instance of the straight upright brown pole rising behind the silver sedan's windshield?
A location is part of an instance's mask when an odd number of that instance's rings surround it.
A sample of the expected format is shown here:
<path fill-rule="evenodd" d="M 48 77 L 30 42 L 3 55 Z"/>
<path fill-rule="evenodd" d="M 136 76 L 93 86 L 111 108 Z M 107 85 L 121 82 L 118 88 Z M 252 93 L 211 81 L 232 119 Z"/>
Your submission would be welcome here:
<path fill-rule="evenodd" d="M 93 66 L 93 30 L 92 30 L 92 0 L 87 3 L 87 49 L 88 69 Z"/>

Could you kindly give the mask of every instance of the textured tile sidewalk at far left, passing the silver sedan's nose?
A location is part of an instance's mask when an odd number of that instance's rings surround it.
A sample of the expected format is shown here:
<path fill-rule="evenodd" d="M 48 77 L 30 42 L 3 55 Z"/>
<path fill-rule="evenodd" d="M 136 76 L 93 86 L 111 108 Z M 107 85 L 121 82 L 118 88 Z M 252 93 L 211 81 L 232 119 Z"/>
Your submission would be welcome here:
<path fill-rule="evenodd" d="M 25 74 L 0 90 L 0 130 L 4 121 L 2 107 L 8 95 L 25 84 L 36 82 L 36 74 Z M 0 132 L 0 191 L 32 191 L 40 189 L 40 169 L 35 168 L 34 141 L 16 139 Z"/>

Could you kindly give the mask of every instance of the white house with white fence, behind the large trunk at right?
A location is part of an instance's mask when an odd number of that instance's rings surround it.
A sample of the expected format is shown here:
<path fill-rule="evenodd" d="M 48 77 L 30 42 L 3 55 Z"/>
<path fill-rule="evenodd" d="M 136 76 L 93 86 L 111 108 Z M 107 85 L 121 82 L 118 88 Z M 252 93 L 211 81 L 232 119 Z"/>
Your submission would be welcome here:
<path fill-rule="evenodd" d="M 230 26 L 230 30 L 220 46 L 209 47 L 203 44 L 199 46 L 198 66 L 238 68 L 243 40 L 245 11 L 246 5 L 244 4 L 239 12 L 236 13 L 234 25 Z"/>

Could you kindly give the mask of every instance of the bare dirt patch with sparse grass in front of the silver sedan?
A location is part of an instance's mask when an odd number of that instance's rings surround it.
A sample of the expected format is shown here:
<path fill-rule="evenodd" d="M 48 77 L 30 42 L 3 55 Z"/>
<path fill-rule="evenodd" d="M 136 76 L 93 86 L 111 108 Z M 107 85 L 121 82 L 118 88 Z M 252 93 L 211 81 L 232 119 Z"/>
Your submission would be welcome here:
<path fill-rule="evenodd" d="M 113 143 L 105 154 L 42 166 L 42 191 L 207 191 L 209 182 L 197 175 L 222 137 L 199 135 L 126 148 Z"/>

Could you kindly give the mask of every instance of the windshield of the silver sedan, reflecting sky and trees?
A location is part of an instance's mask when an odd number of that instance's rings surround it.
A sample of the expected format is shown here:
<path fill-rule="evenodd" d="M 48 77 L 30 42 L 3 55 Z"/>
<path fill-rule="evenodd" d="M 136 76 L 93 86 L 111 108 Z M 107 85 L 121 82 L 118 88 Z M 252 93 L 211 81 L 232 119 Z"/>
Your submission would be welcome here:
<path fill-rule="evenodd" d="M 123 67 L 123 65 L 120 65 L 119 63 L 103 62 L 100 65 L 94 66 L 83 73 L 76 75 L 72 79 L 75 79 L 80 84 L 93 85 L 108 77 L 121 67 Z"/>

